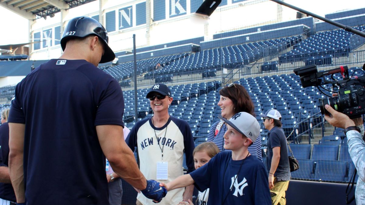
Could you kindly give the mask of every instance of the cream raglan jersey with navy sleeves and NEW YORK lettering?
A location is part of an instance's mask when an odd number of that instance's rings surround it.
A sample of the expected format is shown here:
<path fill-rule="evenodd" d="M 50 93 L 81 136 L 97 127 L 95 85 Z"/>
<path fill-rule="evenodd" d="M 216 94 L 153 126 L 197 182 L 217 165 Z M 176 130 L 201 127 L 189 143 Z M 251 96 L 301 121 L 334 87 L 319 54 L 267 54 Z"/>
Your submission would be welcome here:
<path fill-rule="evenodd" d="M 170 117 L 160 128 L 154 127 L 151 118 L 138 121 L 131 129 L 126 142 L 131 150 L 138 148 L 140 169 L 146 179 L 157 180 L 157 163 L 168 162 L 168 183 L 183 175 L 183 155 L 185 152 L 187 173 L 194 170 L 193 150 L 195 148 L 189 124 L 181 119 Z M 163 158 L 162 158 L 163 151 Z M 183 200 L 184 188 L 169 191 L 159 204 L 178 204 Z M 142 204 L 154 204 L 152 200 L 139 193 L 137 199 Z"/>

